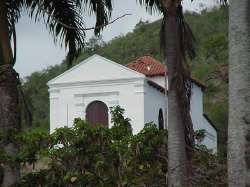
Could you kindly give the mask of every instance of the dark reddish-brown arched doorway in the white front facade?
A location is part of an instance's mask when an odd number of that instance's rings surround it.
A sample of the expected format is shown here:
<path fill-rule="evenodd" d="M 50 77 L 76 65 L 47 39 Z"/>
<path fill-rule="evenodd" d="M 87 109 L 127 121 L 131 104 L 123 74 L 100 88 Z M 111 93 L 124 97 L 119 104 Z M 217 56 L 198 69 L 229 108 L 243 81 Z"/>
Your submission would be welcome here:
<path fill-rule="evenodd" d="M 86 120 L 91 125 L 102 124 L 108 127 L 108 107 L 102 101 L 93 101 L 86 109 Z"/>

